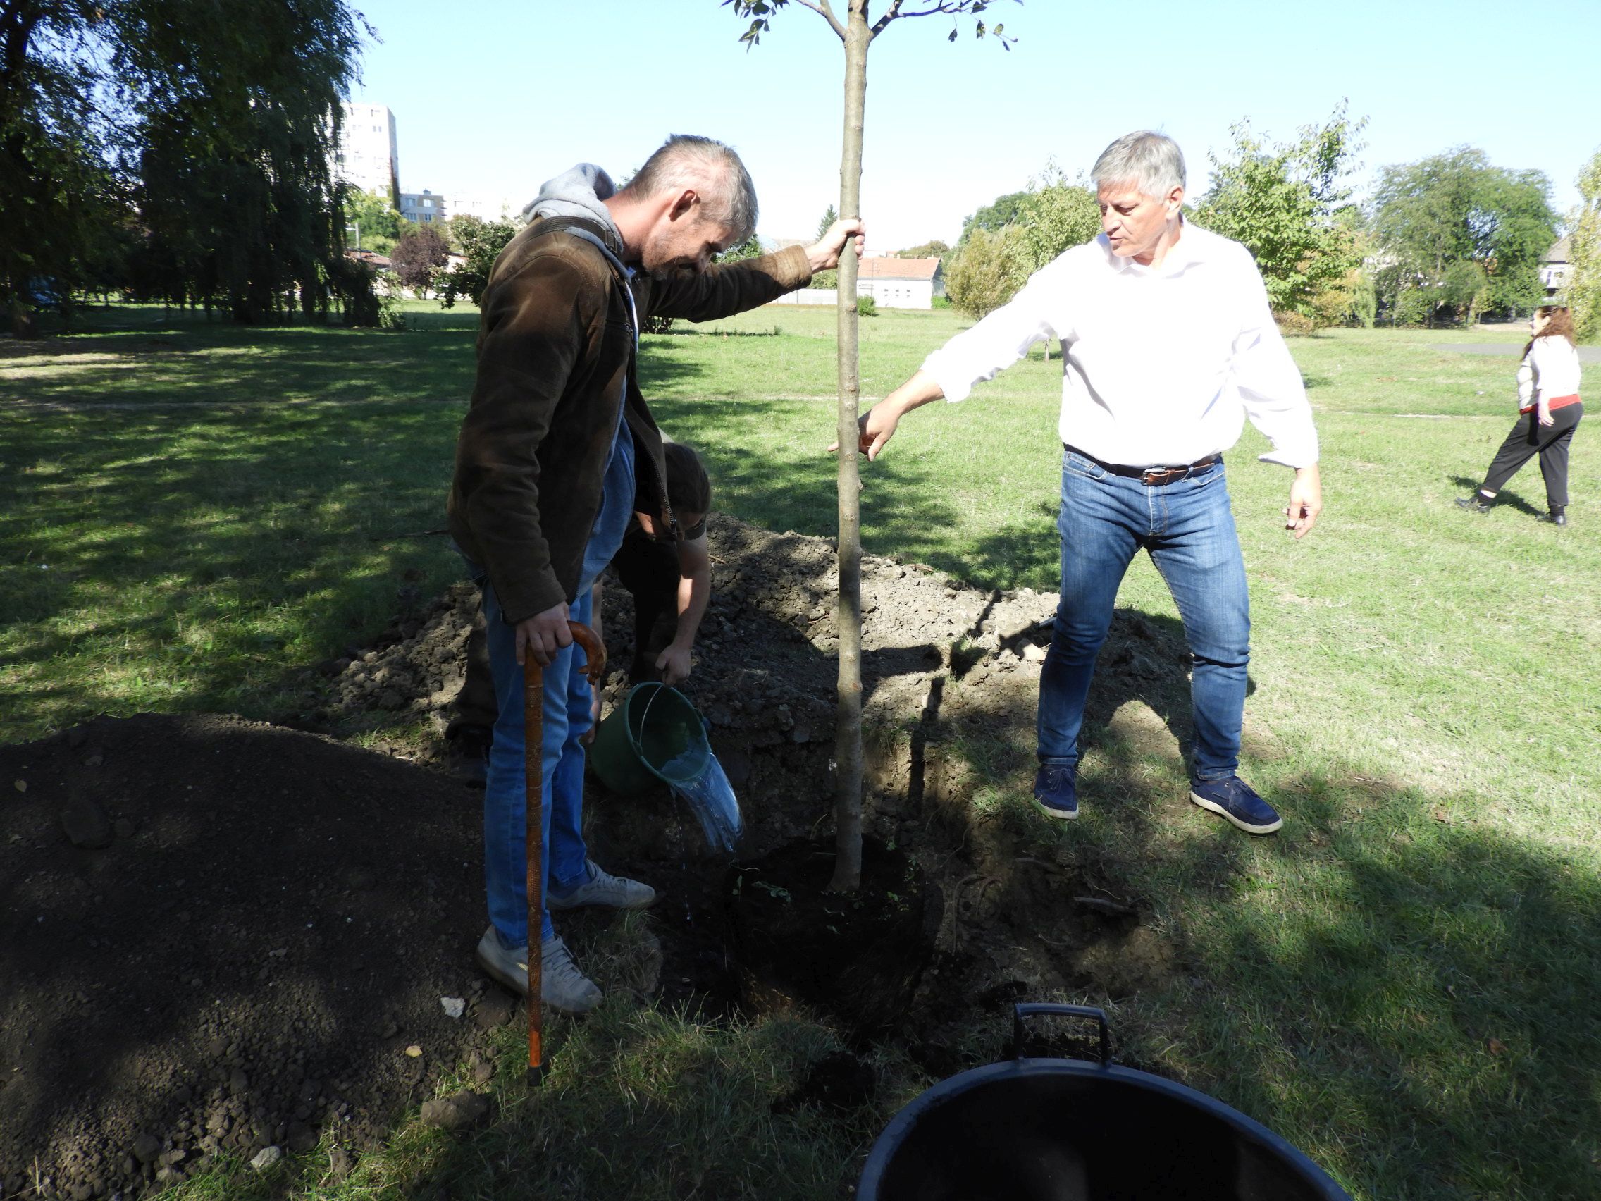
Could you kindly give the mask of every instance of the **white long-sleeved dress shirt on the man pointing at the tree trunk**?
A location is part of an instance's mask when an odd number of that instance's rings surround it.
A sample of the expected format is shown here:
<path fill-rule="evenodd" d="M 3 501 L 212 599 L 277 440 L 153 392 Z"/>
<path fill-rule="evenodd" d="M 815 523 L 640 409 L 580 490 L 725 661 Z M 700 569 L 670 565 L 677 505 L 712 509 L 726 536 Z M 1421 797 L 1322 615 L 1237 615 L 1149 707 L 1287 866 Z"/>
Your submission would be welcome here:
<path fill-rule="evenodd" d="M 1106 235 L 1036 272 L 1009 304 L 929 355 L 948 400 L 1061 339 L 1068 445 L 1130 468 L 1194 463 L 1239 440 L 1246 416 L 1289 468 L 1318 461 L 1300 370 L 1273 323 L 1250 251 L 1188 221 L 1161 266 Z"/>

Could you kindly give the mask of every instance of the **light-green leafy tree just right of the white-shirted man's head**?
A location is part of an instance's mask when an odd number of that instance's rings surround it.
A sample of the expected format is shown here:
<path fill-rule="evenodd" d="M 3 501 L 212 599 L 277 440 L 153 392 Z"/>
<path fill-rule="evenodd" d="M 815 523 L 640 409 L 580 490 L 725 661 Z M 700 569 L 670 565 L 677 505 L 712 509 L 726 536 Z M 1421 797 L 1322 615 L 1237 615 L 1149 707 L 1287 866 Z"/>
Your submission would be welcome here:
<path fill-rule="evenodd" d="M 1212 187 L 1196 205 L 1196 224 L 1250 250 L 1274 312 L 1314 317 L 1319 293 L 1359 264 L 1348 219 L 1356 207 L 1343 181 L 1366 123 L 1351 122 L 1342 101 L 1327 122 L 1302 127 L 1292 143 L 1268 146 L 1242 120 L 1230 127 L 1234 144 L 1226 155 L 1207 154 Z"/>

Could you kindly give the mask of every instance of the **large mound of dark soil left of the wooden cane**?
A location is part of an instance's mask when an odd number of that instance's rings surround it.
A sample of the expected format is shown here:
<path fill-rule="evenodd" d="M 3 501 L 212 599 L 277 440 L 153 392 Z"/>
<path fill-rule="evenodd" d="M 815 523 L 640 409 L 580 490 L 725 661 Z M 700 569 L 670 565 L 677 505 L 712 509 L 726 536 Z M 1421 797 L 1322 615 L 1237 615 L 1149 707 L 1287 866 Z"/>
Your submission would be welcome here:
<path fill-rule="evenodd" d="M 5 746 L 0 780 L 5 1196 L 109 1196 L 323 1127 L 359 1151 L 479 1055 L 458 785 L 210 716 Z"/>

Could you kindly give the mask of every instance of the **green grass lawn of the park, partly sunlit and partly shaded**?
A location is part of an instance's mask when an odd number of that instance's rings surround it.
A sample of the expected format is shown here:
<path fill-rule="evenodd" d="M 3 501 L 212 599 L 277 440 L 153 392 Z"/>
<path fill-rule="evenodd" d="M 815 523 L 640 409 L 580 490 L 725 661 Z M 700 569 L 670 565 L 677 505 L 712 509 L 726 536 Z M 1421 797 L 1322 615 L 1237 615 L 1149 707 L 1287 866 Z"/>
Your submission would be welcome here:
<path fill-rule="evenodd" d="M 0 738 L 96 713 L 275 716 L 303 671 L 453 580 L 443 540 L 403 536 L 443 524 L 472 376 L 475 314 L 431 307 L 395 333 L 114 309 L 98 331 L 0 343 Z M 961 325 L 863 320 L 865 396 Z M 1194 964 L 1114 1006 L 1130 1058 L 1278 1129 L 1364 1201 L 1601 1195 L 1601 444 L 1575 439 L 1566 530 L 1534 520 L 1534 466 L 1487 517 L 1451 503 L 1511 424 L 1516 360 L 1441 346 L 1519 333 L 1294 339 L 1327 501 L 1302 543 L 1279 528 L 1289 474 L 1254 461 L 1263 440 L 1247 429 L 1230 456 L 1255 620 L 1244 772 L 1284 831 L 1162 829 L 1126 783 L 1182 796 L 1182 765 L 1105 730 L 1087 732 L 1084 820 L 1031 826 L 1114 865 Z M 1036 349 L 913 415 L 863 464 L 866 548 L 1053 589 L 1058 373 Z M 833 533 L 833 311 L 650 336 L 642 376 L 663 428 L 706 456 L 717 508 Z M 1122 604 L 1177 618 L 1145 559 Z M 1026 754 L 981 765 L 1033 821 Z M 607 1010 L 567 1038 L 536 1103 L 503 1086 L 511 1137 L 407 1129 L 339 1188 L 314 1185 L 312 1161 L 183 1191 L 403 1196 L 432 1174 L 488 1196 L 516 1171 L 530 1190 L 679 1196 L 695 1169 L 660 1148 L 698 1143 L 725 1148 L 703 1195 L 837 1195 L 925 1083 L 887 1062 L 863 1123 L 778 1119 L 765 1099 L 828 1031 Z M 605 1166 L 572 1179 L 527 1155 L 597 1132 Z"/>

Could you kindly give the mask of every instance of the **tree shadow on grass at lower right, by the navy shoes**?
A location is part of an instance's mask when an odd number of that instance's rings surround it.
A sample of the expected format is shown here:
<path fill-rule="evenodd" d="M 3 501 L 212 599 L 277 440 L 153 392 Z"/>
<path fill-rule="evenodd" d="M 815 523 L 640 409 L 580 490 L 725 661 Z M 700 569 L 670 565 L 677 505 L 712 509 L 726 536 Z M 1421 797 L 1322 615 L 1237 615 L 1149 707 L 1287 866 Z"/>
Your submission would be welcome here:
<path fill-rule="evenodd" d="M 1153 708 L 1177 692 L 1105 668 L 1097 687 L 1106 705 Z M 948 799 L 953 837 L 994 842 L 1009 826 L 997 858 L 1066 855 L 1180 945 L 1166 985 L 1108 996 L 1092 982 L 1061 998 L 1116 1001 L 1126 1058 L 1265 1123 L 1359 1198 L 1595 1191 L 1601 878 L 1588 857 L 1499 829 L 1499 797 L 1354 761 L 1284 770 L 1282 756 L 1249 764 L 1286 818 L 1252 839 L 1188 804 L 1175 754 L 1116 729 L 1085 740 L 1084 817 L 1050 821 L 1026 801 L 1033 764 L 1005 765 L 1026 730 L 983 749 L 929 738 L 1015 797 L 1001 821 Z M 1020 870 L 993 903 L 1015 914 L 1017 940 L 1049 946 L 1050 895 Z"/>

